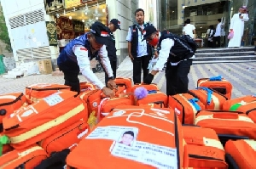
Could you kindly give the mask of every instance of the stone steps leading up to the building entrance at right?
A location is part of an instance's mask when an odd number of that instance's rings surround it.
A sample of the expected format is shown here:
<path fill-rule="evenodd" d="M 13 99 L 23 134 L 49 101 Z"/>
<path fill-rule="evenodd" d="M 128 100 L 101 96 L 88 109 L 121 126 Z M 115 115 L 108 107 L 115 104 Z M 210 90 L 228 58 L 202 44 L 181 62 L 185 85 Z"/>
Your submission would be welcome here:
<path fill-rule="evenodd" d="M 256 62 L 254 48 L 199 48 L 193 64 Z"/>

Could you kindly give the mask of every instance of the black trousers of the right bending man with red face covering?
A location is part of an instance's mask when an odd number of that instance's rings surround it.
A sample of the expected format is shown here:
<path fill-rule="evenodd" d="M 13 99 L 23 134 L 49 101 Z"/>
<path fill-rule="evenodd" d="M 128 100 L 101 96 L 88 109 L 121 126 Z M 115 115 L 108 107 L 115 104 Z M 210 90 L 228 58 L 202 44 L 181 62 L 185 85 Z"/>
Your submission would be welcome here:
<path fill-rule="evenodd" d="M 189 88 L 189 71 L 193 59 L 183 60 L 177 65 L 166 65 L 166 94 L 187 93 Z"/>

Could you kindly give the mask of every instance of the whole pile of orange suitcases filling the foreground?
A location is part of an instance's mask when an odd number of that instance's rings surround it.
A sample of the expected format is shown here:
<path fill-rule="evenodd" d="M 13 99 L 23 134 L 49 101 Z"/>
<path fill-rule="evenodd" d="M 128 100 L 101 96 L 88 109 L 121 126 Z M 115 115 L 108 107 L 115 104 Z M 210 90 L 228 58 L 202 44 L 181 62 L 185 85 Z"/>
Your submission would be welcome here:
<path fill-rule="evenodd" d="M 87 82 L 0 95 L 0 168 L 256 168 L 256 96 L 221 77 L 169 97 L 115 82 L 114 99 Z"/>

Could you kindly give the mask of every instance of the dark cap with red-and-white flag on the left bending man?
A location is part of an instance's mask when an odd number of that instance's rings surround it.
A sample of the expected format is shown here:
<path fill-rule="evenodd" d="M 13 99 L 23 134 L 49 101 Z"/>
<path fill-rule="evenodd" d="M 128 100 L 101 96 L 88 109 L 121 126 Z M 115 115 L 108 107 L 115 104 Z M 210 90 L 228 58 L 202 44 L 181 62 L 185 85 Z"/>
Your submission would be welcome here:
<path fill-rule="evenodd" d="M 106 25 L 96 21 L 91 25 L 90 32 L 95 36 L 96 42 L 108 45 L 108 29 Z"/>

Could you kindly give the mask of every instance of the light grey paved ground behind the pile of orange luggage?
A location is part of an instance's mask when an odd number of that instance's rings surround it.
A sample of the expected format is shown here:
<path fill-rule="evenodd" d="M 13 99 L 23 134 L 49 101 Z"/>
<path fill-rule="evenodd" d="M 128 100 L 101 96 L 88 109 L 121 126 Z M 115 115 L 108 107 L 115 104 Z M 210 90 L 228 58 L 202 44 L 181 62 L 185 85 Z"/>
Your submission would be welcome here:
<path fill-rule="evenodd" d="M 248 69 L 251 68 L 251 69 Z M 252 69 L 253 68 L 253 69 Z M 96 75 L 104 81 L 103 73 Z M 126 58 L 117 72 L 118 76 L 132 77 L 132 65 L 130 59 Z M 196 87 L 199 78 L 221 75 L 233 84 L 232 98 L 248 94 L 256 94 L 256 62 L 234 63 L 234 64 L 205 64 L 192 65 L 189 73 L 189 89 Z M 84 76 L 79 76 L 80 82 L 85 82 Z M 161 91 L 166 92 L 166 81 L 164 73 L 154 77 Z M 18 79 L 5 79 L 0 77 L 0 94 L 24 92 L 25 87 L 35 83 L 64 83 L 63 76 L 35 75 Z"/>

